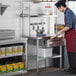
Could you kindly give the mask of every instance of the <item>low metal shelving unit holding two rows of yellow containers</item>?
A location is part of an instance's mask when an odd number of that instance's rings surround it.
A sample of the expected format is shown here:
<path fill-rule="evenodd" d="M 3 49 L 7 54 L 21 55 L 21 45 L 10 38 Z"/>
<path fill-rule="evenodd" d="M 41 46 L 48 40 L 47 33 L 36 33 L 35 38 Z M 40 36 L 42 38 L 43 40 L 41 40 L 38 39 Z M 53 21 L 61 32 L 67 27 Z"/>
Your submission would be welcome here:
<path fill-rule="evenodd" d="M 22 60 L 21 61 L 23 61 L 24 62 L 24 65 L 25 65 L 25 67 L 24 67 L 24 69 L 23 70 L 20 70 L 20 71 L 13 71 L 13 72 L 6 72 L 6 73 L 3 73 L 3 74 L 0 74 L 0 76 L 12 76 L 12 75 L 17 75 L 17 74 L 23 74 L 23 73 L 26 73 L 27 72 L 27 38 L 22 38 L 22 39 L 10 39 L 10 40 L 1 40 L 0 41 L 0 47 L 1 46 L 4 46 L 4 47 L 7 47 L 8 45 L 16 45 L 16 44 L 23 44 L 23 50 L 24 50 L 24 52 L 23 53 L 19 53 L 19 54 L 15 54 L 15 55 L 9 55 L 9 56 L 0 56 L 0 59 L 6 59 L 6 58 L 8 58 L 8 60 L 9 60 L 9 58 L 13 58 L 13 57 L 19 57 L 19 56 L 21 56 L 22 58 Z M 11 45 L 11 46 L 12 46 Z M 11 58 L 11 59 L 12 59 Z M 12 64 L 12 63 L 11 63 Z"/>

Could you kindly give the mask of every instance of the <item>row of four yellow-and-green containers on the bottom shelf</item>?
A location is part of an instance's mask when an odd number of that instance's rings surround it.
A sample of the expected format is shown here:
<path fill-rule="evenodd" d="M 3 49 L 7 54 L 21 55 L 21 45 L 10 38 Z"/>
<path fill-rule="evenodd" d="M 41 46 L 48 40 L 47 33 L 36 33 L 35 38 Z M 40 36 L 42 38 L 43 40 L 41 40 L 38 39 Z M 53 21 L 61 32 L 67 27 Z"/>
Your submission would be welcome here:
<path fill-rule="evenodd" d="M 25 62 L 14 62 L 6 65 L 0 65 L 0 74 L 21 71 L 25 69 Z"/>

